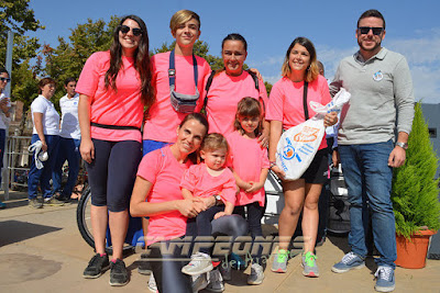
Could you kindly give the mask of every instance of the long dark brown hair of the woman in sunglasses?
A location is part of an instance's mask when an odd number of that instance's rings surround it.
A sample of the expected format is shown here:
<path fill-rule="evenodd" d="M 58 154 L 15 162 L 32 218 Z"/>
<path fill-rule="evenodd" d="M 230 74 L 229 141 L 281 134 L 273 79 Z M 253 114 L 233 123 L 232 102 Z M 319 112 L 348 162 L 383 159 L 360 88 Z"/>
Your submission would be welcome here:
<path fill-rule="evenodd" d="M 110 46 L 110 67 L 106 72 L 106 89 L 111 86 L 113 91 L 118 91 L 117 77 L 122 66 L 122 46 L 119 43 L 119 31 L 125 20 L 135 21 L 141 27 L 142 34 L 139 46 L 134 53 L 134 68 L 139 72 L 141 79 L 141 100 L 145 106 L 151 106 L 155 102 L 154 89 L 151 84 L 152 72 L 148 54 L 148 33 L 144 21 L 136 15 L 127 15 L 121 19 L 119 25 L 113 31 L 113 43 Z"/>

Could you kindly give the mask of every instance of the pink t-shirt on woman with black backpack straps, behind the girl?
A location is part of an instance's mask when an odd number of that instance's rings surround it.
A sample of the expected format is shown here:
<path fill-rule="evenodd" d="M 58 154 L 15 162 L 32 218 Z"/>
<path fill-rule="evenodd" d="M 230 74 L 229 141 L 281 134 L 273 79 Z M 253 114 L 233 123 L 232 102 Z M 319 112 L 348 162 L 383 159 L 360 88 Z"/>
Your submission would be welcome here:
<path fill-rule="evenodd" d="M 209 76 L 208 76 L 209 77 Z M 208 77 L 205 82 L 207 82 Z M 220 72 L 212 79 L 208 92 L 207 114 L 209 122 L 209 133 L 220 133 L 228 135 L 234 131 L 237 105 L 241 99 L 251 97 L 263 99 L 264 106 L 267 105 L 266 87 L 258 80 L 260 91 L 255 89 L 255 82 L 248 71 L 240 76 L 228 76 L 226 71 Z M 205 99 L 206 92 L 204 92 Z"/>

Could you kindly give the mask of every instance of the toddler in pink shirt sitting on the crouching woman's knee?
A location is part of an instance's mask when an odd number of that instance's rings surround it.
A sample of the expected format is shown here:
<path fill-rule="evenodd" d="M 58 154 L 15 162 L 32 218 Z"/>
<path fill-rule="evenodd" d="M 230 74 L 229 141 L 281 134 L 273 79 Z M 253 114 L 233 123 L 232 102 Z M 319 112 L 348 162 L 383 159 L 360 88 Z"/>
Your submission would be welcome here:
<path fill-rule="evenodd" d="M 196 236 L 211 236 L 211 221 L 221 216 L 231 215 L 235 205 L 235 179 L 232 171 L 224 167 L 229 146 L 227 139 L 218 133 L 209 134 L 201 144 L 200 157 L 204 162 L 189 167 L 182 182 L 184 199 L 213 196 L 217 204 L 187 221 L 187 234 Z M 191 256 L 191 261 L 182 269 L 190 275 L 206 273 L 212 270 L 209 248 L 200 248 Z"/>

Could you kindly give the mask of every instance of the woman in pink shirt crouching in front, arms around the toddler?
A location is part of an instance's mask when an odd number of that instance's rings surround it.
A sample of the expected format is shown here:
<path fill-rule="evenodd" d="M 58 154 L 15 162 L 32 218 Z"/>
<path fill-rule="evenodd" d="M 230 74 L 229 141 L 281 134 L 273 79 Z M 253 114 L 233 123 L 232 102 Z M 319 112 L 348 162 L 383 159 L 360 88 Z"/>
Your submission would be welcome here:
<path fill-rule="evenodd" d="M 185 117 L 177 129 L 177 142 L 144 156 L 139 166 L 130 203 L 133 216 L 150 216 L 146 245 L 150 258 L 165 259 L 152 261 L 158 292 L 193 292 L 190 278 L 182 273 L 184 263 L 167 261 L 167 258 L 182 258 L 180 249 L 170 255 L 163 253 L 155 243 L 169 244 L 185 235 L 186 218 L 213 206 L 216 199 L 184 199 L 180 179 L 190 165 L 196 162 L 190 156 L 200 147 L 208 132 L 208 122 L 201 114 Z M 193 153 L 193 154 L 191 154 Z"/>

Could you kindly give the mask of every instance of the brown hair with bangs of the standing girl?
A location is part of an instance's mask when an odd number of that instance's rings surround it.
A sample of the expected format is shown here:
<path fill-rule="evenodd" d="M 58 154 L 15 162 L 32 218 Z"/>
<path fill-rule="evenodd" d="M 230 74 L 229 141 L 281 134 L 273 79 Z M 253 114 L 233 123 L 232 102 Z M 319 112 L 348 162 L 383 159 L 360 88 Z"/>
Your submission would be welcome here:
<path fill-rule="evenodd" d="M 245 97 L 241 99 L 239 104 L 237 105 L 234 128 L 235 131 L 243 132 L 243 127 L 240 123 L 240 117 L 258 117 L 258 126 L 255 128 L 254 133 L 256 136 L 261 134 L 261 132 L 263 131 L 263 111 L 262 104 L 258 100 L 251 97 Z"/>

